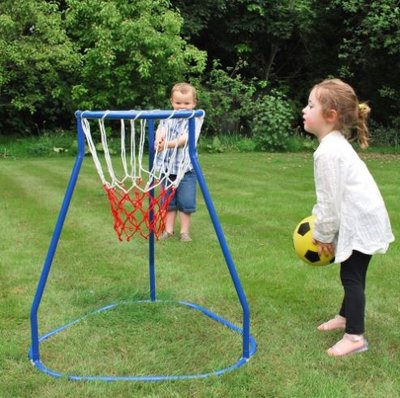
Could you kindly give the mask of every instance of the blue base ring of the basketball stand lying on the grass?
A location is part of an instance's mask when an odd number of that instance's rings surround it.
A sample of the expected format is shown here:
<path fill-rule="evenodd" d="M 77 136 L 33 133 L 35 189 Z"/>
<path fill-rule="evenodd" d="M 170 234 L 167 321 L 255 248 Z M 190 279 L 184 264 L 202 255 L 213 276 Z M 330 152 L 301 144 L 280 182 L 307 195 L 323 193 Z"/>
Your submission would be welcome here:
<path fill-rule="evenodd" d="M 71 321 L 67 324 L 65 324 L 64 326 L 61 326 L 57 329 L 52 330 L 51 332 L 46 333 L 43 336 L 39 337 L 39 344 L 41 342 L 43 342 L 44 340 L 49 339 L 51 336 L 54 336 L 55 334 L 75 325 L 76 323 L 92 316 L 95 314 L 98 314 L 100 312 L 105 312 L 108 310 L 111 310 L 115 307 L 117 307 L 120 304 L 126 304 L 127 302 L 120 302 L 117 304 L 111 304 L 111 305 L 107 305 L 105 307 L 102 307 L 88 315 L 85 315 L 79 319 L 76 319 L 74 321 Z M 200 305 L 197 304 L 192 304 L 192 303 L 188 303 L 185 301 L 178 301 L 178 302 L 174 302 L 174 301 L 164 301 L 164 300 L 156 300 L 156 301 L 151 301 L 151 300 L 141 300 L 141 301 L 136 301 L 136 303 L 173 303 L 173 304 L 180 304 L 189 308 L 193 308 L 199 312 L 201 312 L 203 315 L 208 316 L 209 318 L 211 318 L 212 320 L 219 322 L 221 324 L 223 324 L 224 326 L 228 327 L 229 329 L 233 330 L 234 332 L 240 333 L 241 335 L 243 335 L 243 329 L 239 328 L 238 326 L 234 325 L 233 323 L 227 321 L 226 319 L 220 317 L 219 315 L 211 312 L 210 310 L 208 310 L 207 308 L 201 307 Z M 31 360 L 32 364 L 38 368 L 40 371 L 59 378 L 66 378 L 68 380 L 75 380 L 75 381 L 84 381 L 84 380 L 95 380 L 95 381 L 163 381 L 163 380 L 183 380 L 183 379 L 201 379 L 201 378 L 206 378 L 206 377 L 210 377 L 210 376 L 221 376 L 224 373 L 227 372 L 231 372 L 234 369 L 240 368 L 241 366 L 243 366 L 246 362 L 248 362 L 250 360 L 250 358 L 256 353 L 257 351 L 257 344 L 255 339 L 250 336 L 249 338 L 249 357 L 248 358 L 244 358 L 241 357 L 236 363 L 223 368 L 223 369 L 218 369 L 215 370 L 213 372 L 208 372 L 208 373 L 197 373 L 197 374 L 189 374 L 189 375 L 174 375 L 174 376 L 163 376 L 163 375 L 159 375 L 159 376 L 79 376 L 79 375 L 69 375 L 69 374 L 63 374 L 63 373 L 59 373 L 56 372 L 54 370 L 51 370 L 49 368 L 47 368 L 41 361 L 40 359 L 37 360 L 33 360 L 32 358 L 32 347 L 29 349 L 29 359 Z"/>

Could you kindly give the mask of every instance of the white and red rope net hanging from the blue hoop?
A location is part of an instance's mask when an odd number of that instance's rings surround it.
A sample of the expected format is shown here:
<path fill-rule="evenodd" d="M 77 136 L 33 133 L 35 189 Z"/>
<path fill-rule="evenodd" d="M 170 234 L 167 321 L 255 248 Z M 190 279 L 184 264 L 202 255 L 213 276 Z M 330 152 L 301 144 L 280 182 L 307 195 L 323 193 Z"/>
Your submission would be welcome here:
<path fill-rule="evenodd" d="M 144 156 L 148 121 L 140 118 L 142 112 L 133 119 L 119 120 L 107 119 L 107 114 L 105 112 L 97 120 L 97 135 L 92 134 L 90 120 L 85 118 L 84 112 L 81 120 L 89 151 L 111 205 L 114 230 L 121 241 L 129 241 L 136 233 L 144 238 L 154 233 L 158 239 L 165 229 L 168 205 L 190 166 L 188 140 L 178 152 L 178 140 L 173 139 L 174 129 L 179 129 L 178 135 L 187 134 L 187 119 L 174 119 L 175 112 L 172 112 L 169 118 L 156 121 L 156 139 L 161 137 L 162 145 L 155 145 L 154 162 L 149 169 L 149 161 Z M 119 130 L 119 159 L 112 156 L 109 147 L 115 124 Z M 196 141 L 200 128 L 201 123 L 196 127 Z M 176 173 L 172 178 L 170 170 Z"/>

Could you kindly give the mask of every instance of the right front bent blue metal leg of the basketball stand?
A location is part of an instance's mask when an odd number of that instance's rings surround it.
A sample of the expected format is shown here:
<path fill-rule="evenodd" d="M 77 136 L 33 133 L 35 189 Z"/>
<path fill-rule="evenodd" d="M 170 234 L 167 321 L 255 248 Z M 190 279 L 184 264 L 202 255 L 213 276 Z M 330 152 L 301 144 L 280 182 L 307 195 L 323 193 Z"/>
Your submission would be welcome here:
<path fill-rule="evenodd" d="M 240 283 L 239 276 L 237 274 L 234 262 L 232 260 L 228 245 L 225 240 L 225 236 L 219 222 L 217 212 L 215 211 L 214 204 L 211 199 L 211 195 L 208 191 L 207 184 L 203 173 L 200 168 L 199 161 L 196 156 L 196 141 L 195 141 L 195 126 L 196 121 L 195 118 L 192 117 L 189 119 L 189 155 L 194 170 L 196 172 L 197 180 L 199 182 L 201 191 L 203 193 L 204 200 L 206 202 L 206 206 L 208 212 L 210 214 L 212 223 L 214 225 L 215 232 L 217 234 L 219 244 L 221 246 L 225 262 L 228 266 L 233 284 L 236 289 L 236 293 L 238 295 L 240 304 L 243 309 L 243 357 L 249 358 L 250 357 L 250 310 L 247 304 L 246 296 L 244 294 L 242 285 Z"/>

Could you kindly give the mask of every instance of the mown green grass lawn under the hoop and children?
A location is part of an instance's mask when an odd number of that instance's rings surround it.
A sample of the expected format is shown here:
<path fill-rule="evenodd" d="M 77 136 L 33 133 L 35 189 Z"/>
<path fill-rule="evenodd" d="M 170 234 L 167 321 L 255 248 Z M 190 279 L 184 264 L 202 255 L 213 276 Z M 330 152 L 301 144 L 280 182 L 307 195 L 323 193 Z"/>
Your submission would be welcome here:
<path fill-rule="evenodd" d="M 201 167 L 251 310 L 257 353 L 221 377 L 168 382 L 73 382 L 33 367 L 29 314 L 64 197 L 72 158 L 0 160 L 0 397 L 398 397 L 399 244 L 373 258 L 367 280 L 370 350 L 330 358 L 338 267 L 298 260 L 291 235 L 314 204 L 311 154 L 200 156 Z M 400 237 L 400 157 L 366 163 Z M 156 244 L 157 297 L 202 305 L 241 325 L 241 308 L 201 194 L 193 242 Z M 39 310 L 44 334 L 108 304 L 41 344 L 52 370 L 81 375 L 209 372 L 235 363 L 241 338 L 196 311 L 138 305 L 149 297 L 148 243 L 118 242 L 91 159 L 85 159 Z"/>

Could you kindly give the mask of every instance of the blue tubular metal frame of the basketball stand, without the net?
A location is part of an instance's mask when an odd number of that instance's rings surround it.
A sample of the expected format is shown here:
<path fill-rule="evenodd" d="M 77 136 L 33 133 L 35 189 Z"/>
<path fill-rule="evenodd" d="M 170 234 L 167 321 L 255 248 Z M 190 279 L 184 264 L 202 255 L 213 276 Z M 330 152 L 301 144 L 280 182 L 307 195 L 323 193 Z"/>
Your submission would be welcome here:
<path fill-rule="evenodd" d="M 237 367 L 242 366 L 244 363 L 246 363 L 250 357 L 256 352 L 256 342 L 250 335 L 250 311 L 249 311 L 249 306 L 247 304 L 247 299 L 244 293 L 244 290 L 242 288 L 239 276 L 237 274 L 234 262 L 232 260 L 228 245 L 225 240 L 225 236 L 221 227 L 221 224 L 219 222 L 217 213 L 215 211 L 211 195 L 208 191 L 206 181 L 204 179 L 203 173 L 200 168 L 199 161 L 196 156 L 196 142 L 195 142 L 195 117 L 201 117 L 204 115 L 204 111 L 202 110 L 197 110 L 197 111 L 77 111 L 76 112 L 76 119 L 77 119 L 77 132 L 78 132 L 78 154 L 75 160 L 74 167 L 72 169 L 71 177 L 67 186 L 67 190 L 64 196 L 64 200 L 60 209 L 60 213 L 56 222 L 56 226 L 53 232 L 53 236 L 50 241 L 50 246 L 48 249 L 47 257 L 45 259 L 42 273 L 40 275 L 40 279 L 38 282 L 38 286 L 36 289 L 36 293 L 33 299 L 32 303 L 32 308 L 31 308 L 31 314 L 30 314 L 30 321 L 31 321 L 31 340 L 32 340 L 32 345 L 29 350 L 29 358 L 31 362 L 40 370 L 44 371 L 45 373 L 54 376 L 54 377 L 60 377 L 60 376 L 66 376 L 70 379 L 73 380 L 81 380 L 81 379 L 86 379 L 86 380 L 143 380 L 143 381 L 159 381 L 159 380 L 175 380 L 175 379 L 187 379 L 187 378 L 200 378 L 200 377 L 207 377 L 209 375 L 220 375 L 223 374 L 227 371 L 233 370 Z M 40 361 L 40 342 L 43 340 L 48 339 L 52 335 L 66 329 L 67 327 L 79 322 L 80 320 L 84 319 L 80 318 L 76 321 L 70 322 L 67 325 L 57 328 L 52 332 L 49 332 L 41 337 L 39 337 L 39 332 L 38 332 L 38 310 L 40 306 L 40 302 L 44 293 L 44 289 L 47 283 L 47 278 L 51 269 L 51 265 L 53 262 L 53 258 L 57 249 L 58 241 L 61 235 L 61 231 L 64 225 L 64 221 L 68 212 L 69 204 L 71 202 L 71 198 L 74 192 L 74 188 L 79 176 L 80 168 L 82 165 L 83 158 L 85 156 L 85 139 L 84 139 L 84 133 L 82 129 L 82 118 L 87 118 L 87 119 L 101 119 L 101 118 L 106 118 L 106 119 L 147 119 L 148 120 L 148 133 L 149 133 L 149 167 L 151 168 L 153 158 L 154 158 L 154 121 L 156 119 L 167 119 L 167 118 L 187 118 L 189 120 L 189 155 L 190 159 L 192 162 L 192 165 L 194 167 L 196 177 L 200 186 L 200 189 L 202 191 L 204 201 L 206 203 L 208 212 L 210 214 L 220 247 L 222 249 L 226 265 L 229 269 L 229 273 L 232 278 L 232 282 L 234 284 L 234 287 L 236 289 L 236 293 L 238 296 L 238 299 L 240 301 L 242 311 L 243 311 L 243 327 L 239 328 L 233 324 L 231 324 L 229 321 L 226 321 L 225 319 L 219 317 L 218 315 L 212 313 L 211 311 L 197 306 L 195 304 L 190 304 L 186 302 L 179 302 L 179 304 L 186 305 L 188 307 L 194 308 L 196 310 L 199 310 L 203 314 L 209 316 L 213 320 L 216 320 L 225 326 L 229 327 L 230 329 L 239 332 L 243 336 L 243 341 L 242 341 L 242 357 L 241 359 L 234 365 L 226 368 L 226 369 L 221 369 L 217 370 L 212 373 L 206 373 L 206 374 L 197 374 L 197 375 L 181 375 L 181 376 L 129 376 L 129 377 L 110 377 L 110 376 L 68 376 L 68 375 L 63 375 L 61 373 L 52 371 L 48 368 L 46 368 Z M 150 217 L 153 217 L 151 214 Z M 155 279 L 155 250 L 154 250 L 154 234 L 150 234 L 149 237 L 149 280 L 150 280 L 150 301 L 151 302 L 158 302 L 156 300 L 156 279 Z M 95 311 L 97 312 L 102 312 L 105 310 L 108 310 L 110 308 L 113 308 L 115 305 L 111 306 L 106 306 L 103 307 L 100 310 Z"/>

